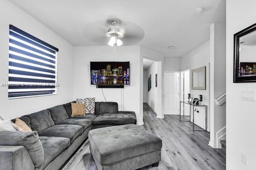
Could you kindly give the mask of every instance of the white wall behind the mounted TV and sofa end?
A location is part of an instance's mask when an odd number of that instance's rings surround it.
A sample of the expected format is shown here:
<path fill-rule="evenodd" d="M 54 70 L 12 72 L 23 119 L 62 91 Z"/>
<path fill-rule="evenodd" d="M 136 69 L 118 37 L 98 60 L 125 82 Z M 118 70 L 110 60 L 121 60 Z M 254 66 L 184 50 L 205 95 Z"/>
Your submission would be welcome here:
<path fill-rule="evenodd" d="M 131 85 L 124 87 L 124 110 L 136 112 L 137 123 L 143 123 L 143 112 L 140 112 L 140 46 L 75 46 L 74 47 L 74 98 L 95 97 L 96 101 L 104 101 L 101 88 L 90 83 L 90 61 L 130 61 Z M 143 63 L 142 63 L 143 67 Z M 142 70 L 143 71 L 143 70 Z M 141 83 L 143 85 L 143 81 Z M 117 102 L 121 110 L 121 89 L 104 88 L 105 98 Z M 140 92 L 142 97 L 140 97 Z"/>

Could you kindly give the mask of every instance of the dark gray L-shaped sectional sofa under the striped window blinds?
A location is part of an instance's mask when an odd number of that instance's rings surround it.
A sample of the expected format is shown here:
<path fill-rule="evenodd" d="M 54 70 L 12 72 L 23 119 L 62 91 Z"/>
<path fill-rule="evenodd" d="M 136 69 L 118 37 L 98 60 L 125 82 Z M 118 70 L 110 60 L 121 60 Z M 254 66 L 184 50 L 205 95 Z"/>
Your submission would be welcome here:
<path fill-rule="evenodd" d="M 0 169 L 59 169 L 91 129 L 136 124 L 135 112 L 118 111 L 115 102 L 96 102 L 95 114 L 71 114 L 67 103 L 19 117 L 33 132 L 0 132 Z"/>

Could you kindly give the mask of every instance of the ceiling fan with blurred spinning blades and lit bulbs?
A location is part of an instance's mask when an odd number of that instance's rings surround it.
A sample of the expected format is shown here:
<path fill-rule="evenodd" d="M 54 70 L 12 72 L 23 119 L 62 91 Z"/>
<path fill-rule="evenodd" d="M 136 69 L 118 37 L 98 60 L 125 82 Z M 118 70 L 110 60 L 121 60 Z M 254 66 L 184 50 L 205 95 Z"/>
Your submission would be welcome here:
<path fill-rule="evenodd" d="M 143 29 L 130 21 L 103 19 L 90 22 L 83 29 L 84 37 L 98 45 L 133 45 L 144 38 Z"/>

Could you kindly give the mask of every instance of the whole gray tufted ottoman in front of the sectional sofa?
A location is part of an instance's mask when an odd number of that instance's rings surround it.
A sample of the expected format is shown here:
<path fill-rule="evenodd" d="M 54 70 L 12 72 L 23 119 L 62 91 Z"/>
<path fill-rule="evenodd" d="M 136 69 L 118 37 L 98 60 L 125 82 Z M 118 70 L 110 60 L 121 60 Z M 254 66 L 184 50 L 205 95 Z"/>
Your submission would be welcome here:
<path fill-rule="evenodd" d="M 162 140 L 137 125 L 94 129 L 89 140 L 98 170 L 134 170 L 161 160 Z"/>

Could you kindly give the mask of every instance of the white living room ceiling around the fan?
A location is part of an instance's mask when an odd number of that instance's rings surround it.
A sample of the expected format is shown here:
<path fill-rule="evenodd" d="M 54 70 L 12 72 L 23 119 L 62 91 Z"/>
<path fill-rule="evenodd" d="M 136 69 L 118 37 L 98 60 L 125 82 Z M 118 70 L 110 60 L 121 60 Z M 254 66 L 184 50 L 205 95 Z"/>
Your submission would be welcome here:
<path fill-rule="evenodd" d="M 209 26 L 225 22 L 225 0 L 9 0 L 73 45 L 97 45 L 83 29 L 94 21 L 119 18 L 144 30 L 142 45 L 165 57 L 181 57 L 209 40 Z M 195 9 L 203 7 L 201 15 Z M 91 34 L 94 34 L 93 32 Z M 168 50 L 167 46 L 176 48 Z"/>

